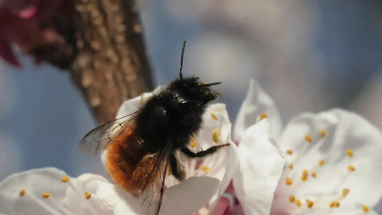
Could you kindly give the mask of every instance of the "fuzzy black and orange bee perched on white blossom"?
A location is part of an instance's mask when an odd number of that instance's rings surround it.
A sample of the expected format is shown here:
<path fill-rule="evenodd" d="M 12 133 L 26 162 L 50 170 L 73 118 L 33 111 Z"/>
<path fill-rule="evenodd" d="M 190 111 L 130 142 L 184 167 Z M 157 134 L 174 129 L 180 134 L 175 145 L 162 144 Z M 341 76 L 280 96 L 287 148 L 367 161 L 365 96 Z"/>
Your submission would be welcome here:
<path fill-rule="evenodd" d="M 130 193 L 143 193 L 148 186 L 157 187 L 157 195 L 144 200 L 159 213 L 164 182 L 169 171 L 180 182 L 185 180 L 180 155 L 188 159 L 213 155 L 227 144 L 215 145 L 199 152 L 189 150 L 189 142 L 201 129 L 202 116 L 210 101 L 217 98 L 211 86 L 221 82 L 205 83 L 198 77 L 183 78 L 183 55 L 179 78 L 153 96 L 133 114 L 100 125 L 81 140 L 78 150 L 101 155 L 106 149 L 106 169 L 116 185 Z M 153 188 L 151 188 L 152 190 Z M 143 205 L 143 204 L 142 204 Z M 149 209 L 147 209 L 149 211 Z"/>

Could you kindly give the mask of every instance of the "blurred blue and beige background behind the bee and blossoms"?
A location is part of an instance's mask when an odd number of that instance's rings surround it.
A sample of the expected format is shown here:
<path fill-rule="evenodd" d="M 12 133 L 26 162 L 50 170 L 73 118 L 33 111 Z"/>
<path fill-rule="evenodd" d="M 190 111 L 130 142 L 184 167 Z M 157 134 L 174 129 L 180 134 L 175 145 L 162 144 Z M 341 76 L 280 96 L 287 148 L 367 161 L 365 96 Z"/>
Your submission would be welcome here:
<path fill-rule="evenodd" d="M 382 127 L 382 1 L 139 0 L 156 84 L 178 73 L 223 81 L 231 116 L 256 78 L 283 121 L 342 107 Z M 105 171 L 77 152 L 96 124 L 68 73 L 0 64 L 0 180 L 55 166 L 72 176 Z"/>

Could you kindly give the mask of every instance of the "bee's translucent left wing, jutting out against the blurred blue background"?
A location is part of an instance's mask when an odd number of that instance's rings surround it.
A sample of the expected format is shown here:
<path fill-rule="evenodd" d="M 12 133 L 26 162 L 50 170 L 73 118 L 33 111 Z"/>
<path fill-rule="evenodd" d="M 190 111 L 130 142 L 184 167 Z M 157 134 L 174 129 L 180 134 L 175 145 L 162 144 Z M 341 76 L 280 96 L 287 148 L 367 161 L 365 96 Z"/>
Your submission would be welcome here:
<path fill-rule="evenodd" d="M 90 155 L 101 155 L 113 137 L 121 132 L 135 114 L 129 114 L 114 121 L 100 125 L 89 131 L 78 143 L 78 151 Z"/>

